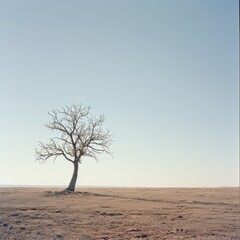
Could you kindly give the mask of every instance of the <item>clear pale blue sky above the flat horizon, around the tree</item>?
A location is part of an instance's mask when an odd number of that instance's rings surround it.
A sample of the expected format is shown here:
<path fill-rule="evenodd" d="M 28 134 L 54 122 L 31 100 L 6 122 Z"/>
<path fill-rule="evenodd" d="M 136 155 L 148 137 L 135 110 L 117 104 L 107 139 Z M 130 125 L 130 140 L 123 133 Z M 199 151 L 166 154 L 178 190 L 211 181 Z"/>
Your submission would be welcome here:
<path fill-rule="evenodd" d="M 237 0 L 0 0 L 0 184 L 68 185 L 35 162 L 47 111 L 91 105 L 114 158 L 78 185 L 239 184 Z"/>

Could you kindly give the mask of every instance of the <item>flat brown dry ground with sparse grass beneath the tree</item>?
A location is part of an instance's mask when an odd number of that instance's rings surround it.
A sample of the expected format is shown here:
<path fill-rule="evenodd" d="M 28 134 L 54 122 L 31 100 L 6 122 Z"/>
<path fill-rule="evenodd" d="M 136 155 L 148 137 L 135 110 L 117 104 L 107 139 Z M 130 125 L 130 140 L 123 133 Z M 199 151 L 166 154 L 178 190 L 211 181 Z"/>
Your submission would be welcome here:
<path fill-rule="evenodd" d="M 240 239 L 238 188 L 0 188 L 0 239 Z"/>

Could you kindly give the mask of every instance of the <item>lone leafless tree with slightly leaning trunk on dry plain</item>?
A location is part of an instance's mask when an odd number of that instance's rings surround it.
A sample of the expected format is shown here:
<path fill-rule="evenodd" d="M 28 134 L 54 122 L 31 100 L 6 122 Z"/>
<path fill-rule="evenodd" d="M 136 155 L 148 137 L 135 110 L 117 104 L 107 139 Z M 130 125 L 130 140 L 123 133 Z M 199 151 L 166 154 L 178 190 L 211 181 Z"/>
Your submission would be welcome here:
<path fill-rule="evenodd" d="M 56 136 L 46 144 L 39 142 L 36 148 L 36 160 L 39 162 L 62 156 L 73 164 L 73 175 L 67 191 L 75 191 L 78 164 L 82 162 L 83 156 L 97 160 L 98 154 L 110 154 L 112 135 L 109 130 L 102 128 L 105 118 L 103 115 L 92 116 L 90 110 L 90 106 L 73 104 L 48 112 L 51 121 L 46 127 L 56 132 Z"/>

